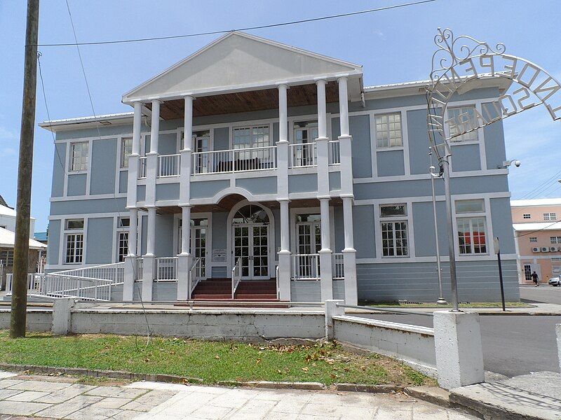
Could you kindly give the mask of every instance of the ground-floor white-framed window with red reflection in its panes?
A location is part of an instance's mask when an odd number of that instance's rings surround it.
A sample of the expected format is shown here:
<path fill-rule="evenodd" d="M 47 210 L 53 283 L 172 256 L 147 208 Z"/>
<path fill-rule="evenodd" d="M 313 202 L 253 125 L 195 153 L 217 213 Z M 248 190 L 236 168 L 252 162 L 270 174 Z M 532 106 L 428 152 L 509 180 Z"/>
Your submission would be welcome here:
<path fill-rule="evenodd" d="M 460 255 L 482 255 L 487 253 L 487 221 L 485 200 L 457 200 L 456 218 Z"/>

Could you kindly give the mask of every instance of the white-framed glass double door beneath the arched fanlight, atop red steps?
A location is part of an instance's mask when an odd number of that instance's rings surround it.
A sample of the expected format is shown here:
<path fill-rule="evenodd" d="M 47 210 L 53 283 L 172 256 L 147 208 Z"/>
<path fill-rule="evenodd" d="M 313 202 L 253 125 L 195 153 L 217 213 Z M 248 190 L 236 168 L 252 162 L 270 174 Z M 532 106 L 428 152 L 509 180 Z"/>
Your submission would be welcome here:
<path fill-rule="evenodd" d="M 245 223 L 232 227 L 234 261 L 241 259 L 242 279 L 269 279 L 269 224 Z"/>

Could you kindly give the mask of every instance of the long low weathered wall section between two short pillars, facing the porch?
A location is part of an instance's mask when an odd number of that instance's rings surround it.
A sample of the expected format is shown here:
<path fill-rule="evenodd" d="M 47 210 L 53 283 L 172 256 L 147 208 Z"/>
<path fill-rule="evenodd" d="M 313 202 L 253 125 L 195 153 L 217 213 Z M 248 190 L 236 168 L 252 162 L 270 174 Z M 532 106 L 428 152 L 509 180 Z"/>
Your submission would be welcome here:
<path fill-rule="evenodd" d="M 325 315 L 318 311 L 283 310 L 147 311 L 152 335 L 255 341 L 274 338 L 319 339 L 325 336 Z M 147 323 L 139 310 L 73 309 L 70 332 L 144 335 Z"/>

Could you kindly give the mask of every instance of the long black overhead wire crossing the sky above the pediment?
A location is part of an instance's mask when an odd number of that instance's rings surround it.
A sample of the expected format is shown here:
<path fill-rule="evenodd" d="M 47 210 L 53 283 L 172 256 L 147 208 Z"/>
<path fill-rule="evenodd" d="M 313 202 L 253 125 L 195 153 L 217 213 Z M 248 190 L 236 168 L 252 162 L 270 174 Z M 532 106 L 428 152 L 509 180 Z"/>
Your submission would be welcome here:
<path fill-rule="evenodd" d="M 281 27 L 286 25 L 299 25 L 301 23 L 307 22 L 317 22 L 318 20 L 327 20 L 327 19 L 336 19 L 336 18 L 345 18 L 347 16 L 354 16 L 354 15 L 364 15 L 366 13 L 375 13 L 380 12 L 383 10 L 391 10 L 395 8 L 404 8 L 409 6 L 416 6 L 418 4 L 424 3 L 433 3 L 437 0 L 421 0 L 421 1 L 412 1 L 410 3 L 402 3 L 396 4 L 393 6 L 385 6 L 380 8 L 373 8 L 368 10 L 360 10 L 358 12 L 349 12 L 349 13 L 339 13 L 338 15 L 328 15 L 322 16 L 320 18 L 310 18 L 310 19 L 302 19 L 302 20 L 292 20 L 290 22 L 281 22 L 281 23 L 272 23 L 269 25 L 259 25 L 253 27 L 244 27 L 238 29 L 223 29 L 220 31 L 209 31 L 209 32 L 198 32 L 195 34 L 183 34 L 183 35 L 170 35 L 170 36 L 154 36 L 151 38 L 133 38 L 133 39 L 121 39 L 116 41 L 93 41 L 93 42 L 74 42 L 74 43 L 48 43 L 48 44 L 37 44 L 39 47 L 69 47 L 69 46 L 78 46 L 78 45 L 107 45 L 107 44 L 118 44 L 118 43 L 134 43 L 134 42 L 145 42 L 145 41 L 161 41 L 164 39 L 177 39 L 177 38 L 192 38 L 194 36 L 204 36 L 204 35 L 216 35 L 216 34 L 227 34 L 231 31 L 250 31 L 252 29 L 265 29 L 265 28 L 273 28 L 273 27 Z M 74 25 L 72 25 L 74 28 Z M 76 33 L 74 33 L 74 38 L 76 38 Z"/>

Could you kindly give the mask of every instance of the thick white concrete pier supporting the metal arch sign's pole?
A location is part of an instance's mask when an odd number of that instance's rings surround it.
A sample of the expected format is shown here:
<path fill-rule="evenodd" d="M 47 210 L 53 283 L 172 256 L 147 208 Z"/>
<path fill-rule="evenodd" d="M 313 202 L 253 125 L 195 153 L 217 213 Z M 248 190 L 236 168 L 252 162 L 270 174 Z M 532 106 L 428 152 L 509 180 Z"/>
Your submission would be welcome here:
<path fill-rule="evenodd" d="M 484 382 L 479 315 L 435 311 L 433 325 L 438 384 L 452 389 Z"/>

